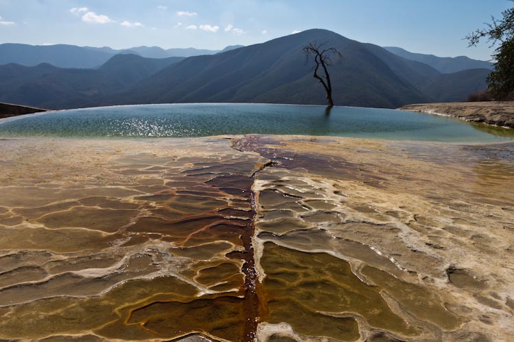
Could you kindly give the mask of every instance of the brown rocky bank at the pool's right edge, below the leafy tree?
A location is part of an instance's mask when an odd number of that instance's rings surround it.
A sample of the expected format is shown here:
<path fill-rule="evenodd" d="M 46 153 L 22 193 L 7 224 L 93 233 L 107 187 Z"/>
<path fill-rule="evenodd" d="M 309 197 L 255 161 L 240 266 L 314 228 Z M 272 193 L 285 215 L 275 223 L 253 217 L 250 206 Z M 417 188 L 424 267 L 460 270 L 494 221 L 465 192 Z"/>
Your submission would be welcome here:
<path fill-rule="evenodd" d="M 465 121 L 485 122 L 495 126 L 514 128 L 514 101 L 418 103 L 404 105 L 398 109 L 452 116 Z"/>

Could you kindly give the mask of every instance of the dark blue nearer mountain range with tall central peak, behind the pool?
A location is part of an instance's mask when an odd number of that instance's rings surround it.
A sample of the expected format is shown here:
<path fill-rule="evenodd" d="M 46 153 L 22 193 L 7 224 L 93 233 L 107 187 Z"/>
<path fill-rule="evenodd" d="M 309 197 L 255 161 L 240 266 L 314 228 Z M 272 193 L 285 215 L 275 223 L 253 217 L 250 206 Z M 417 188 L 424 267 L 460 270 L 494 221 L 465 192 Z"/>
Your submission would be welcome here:
<path fill-rule="evenodd" d="M 312 76 L 312 62 L 306 63 L 302 53 L 304 45 L 315 41 L 343 55 L 330 67 L 336 105 L 393 108 L 461 101 L 486 88 L 485 78 L 491 71 L 471 64 L 471 68 L 450 72 L 451 61 L 446 66 L 432 65 L 433 59 L 432 64 L 419 62 L 412 59 L 419 56 L 402 57 L 401 51 L 391 53 L 391 48 L 310 29 L 262 44 L 186 58 L 149 59 L 137 55 L 145 49 L 132 48 L 111 55 L 95 69 L 8 64 L 0 66 L 0 101 L 48 109 L 135 103 L 325 104 L 323 88 Z M 86 49 L 109 53 L 108 48 Z"/>

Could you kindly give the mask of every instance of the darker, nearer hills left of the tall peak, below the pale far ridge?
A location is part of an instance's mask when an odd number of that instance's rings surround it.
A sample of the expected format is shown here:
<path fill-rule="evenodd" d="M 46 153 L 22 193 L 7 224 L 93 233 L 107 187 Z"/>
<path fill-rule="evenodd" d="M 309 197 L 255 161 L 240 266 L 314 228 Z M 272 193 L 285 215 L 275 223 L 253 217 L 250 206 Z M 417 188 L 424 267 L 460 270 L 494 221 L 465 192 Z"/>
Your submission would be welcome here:
<path fill-rule="evenodd" d="M 0 101 L 48 109 L 99 105 L 99 97 L 126 90 L 183 59 L 115 55 L 98 69 L 6 64 L 0 66 Z"/>

